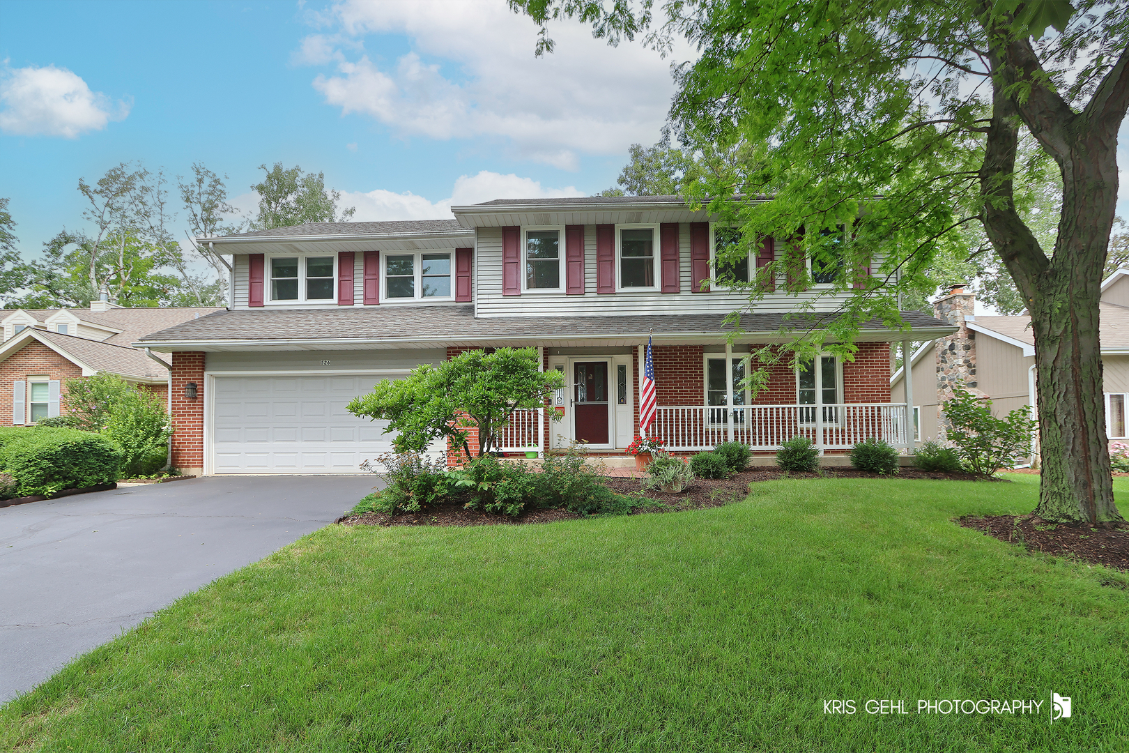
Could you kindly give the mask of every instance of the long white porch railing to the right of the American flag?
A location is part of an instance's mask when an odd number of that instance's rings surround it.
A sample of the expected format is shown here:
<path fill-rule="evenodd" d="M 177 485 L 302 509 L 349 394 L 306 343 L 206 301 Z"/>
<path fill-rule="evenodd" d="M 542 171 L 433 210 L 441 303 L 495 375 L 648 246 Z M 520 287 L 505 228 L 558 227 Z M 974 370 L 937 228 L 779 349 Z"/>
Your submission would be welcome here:
<path fill-rule="evenodd" d="M 659 406 L 648 434 L 664 439 L 666 449 L 683 452 L 711 449 L 729 440 L 754 450 L 774 450 L 798 436 L 821 450 L 850 449 L 869 437 L 907 447 L 905 403 Z"/>

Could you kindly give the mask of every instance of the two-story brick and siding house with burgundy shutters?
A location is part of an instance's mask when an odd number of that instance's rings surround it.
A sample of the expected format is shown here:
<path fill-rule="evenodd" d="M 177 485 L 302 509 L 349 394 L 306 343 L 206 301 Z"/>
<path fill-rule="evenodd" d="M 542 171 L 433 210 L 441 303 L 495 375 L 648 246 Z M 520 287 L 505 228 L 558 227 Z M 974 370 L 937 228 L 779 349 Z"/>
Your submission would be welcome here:
<path fill-rule="evenodd" d="M 868 323 L 854 361 L 829 354 L 776 367 L 751 400 L 742 389 L 750 349 L 778 341 L 799 303 L 833 310 L 834 299 L 815 295 L 833 270 L 814 274 L 813 290 L 772 286 L 730 339 L 723 319 L 747 299 L 716 277 L 715 249 L 729 234 L 677 196 L 499 200 L 453 213 L 201 238 L 234 257 L 231 308 L 139 343 L 173 365 L 175 464 L 205 474 L 356 472 L 391 437 L 345 412 L 352 397 L 419 364 L 507 345 L 536 348 L 542 368 L 563 371 L 569 386 L 551 408 L 516 417 L 504 449 L 575 439 L 622 455 L 638 432 L 649 335 L 651 434 L 672 449 L 734 439 L 769 452 L 797 434 L 831 452 L 868 436 L 905 446 L 891 342 L 953 331 L 912 312 L 911 331 Z M 726 274 L 750 280 L 779 253 L 765 238 Z"/>

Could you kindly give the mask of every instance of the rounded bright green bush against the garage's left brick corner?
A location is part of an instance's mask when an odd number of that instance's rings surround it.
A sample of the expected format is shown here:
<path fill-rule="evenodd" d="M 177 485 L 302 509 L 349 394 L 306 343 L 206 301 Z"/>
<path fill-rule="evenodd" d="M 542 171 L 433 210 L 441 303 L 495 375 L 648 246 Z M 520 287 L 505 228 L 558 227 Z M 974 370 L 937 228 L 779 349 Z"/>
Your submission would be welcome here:
<path fill-rule="evenodd" d="M 121 394 L 102 432 L 122 447 L 123 479 L 151 475 L 168 464 L 173 422 L 164 401 L 148 389 Z"/>

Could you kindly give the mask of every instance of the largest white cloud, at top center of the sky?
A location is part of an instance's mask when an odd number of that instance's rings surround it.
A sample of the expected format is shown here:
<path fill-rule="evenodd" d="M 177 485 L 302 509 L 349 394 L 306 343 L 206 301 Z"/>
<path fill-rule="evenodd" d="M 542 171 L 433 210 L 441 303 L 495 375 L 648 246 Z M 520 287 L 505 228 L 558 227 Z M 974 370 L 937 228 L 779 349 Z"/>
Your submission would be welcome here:
<path fill-rule="evenodd" d="M 506 138 L 522 157 L 567 169 L 576 168 L 577 152 L 655 142 L 674 94 L 669 60 L 638 43 L 610 47 L 580 24 L 553 26 L 557 52 L 534 58 L 536 27 L 500 0 L 345 0 L 318 24 L 353 45 L 373 34 L 412 43 L 385 64 L 378 51 L 347 60 L 340 49 L 326 50 L 330 36 L 303 42 L 310 62 L 338 60 L 314 87 L 342 114 L 369 115 L 405 137 Z M 676 50 L 676 60 L 686 56 L 689 49 Z"/>

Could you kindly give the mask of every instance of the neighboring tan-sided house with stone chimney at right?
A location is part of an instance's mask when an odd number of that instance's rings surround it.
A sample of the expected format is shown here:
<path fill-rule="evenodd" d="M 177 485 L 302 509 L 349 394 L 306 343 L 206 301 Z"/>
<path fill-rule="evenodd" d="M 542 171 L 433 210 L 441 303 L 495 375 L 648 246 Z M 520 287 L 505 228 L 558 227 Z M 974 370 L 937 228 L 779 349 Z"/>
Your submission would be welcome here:
<path fill-rule="evenodd" d="M 992 413 L 998 417 L 1035 405 L 1031 317 L 975 316 L 974 307 L 973 294 L 954 286 L 934 304 L 934 309 L 956 331 L 925 343 L 911 358 L 918 444 L 943 435 L 944 402 L 952 397 L 957 382 L 963 382 L 969 392 L 991 399 Z M 1118 270 L 1102 283 L 1100 316 L 1106 435 L 1110 439 L 1127 439 L 1129 270 Z M 904 394 L 903 378 L 904 369 L 891 377 L 893 394 Z"/>

